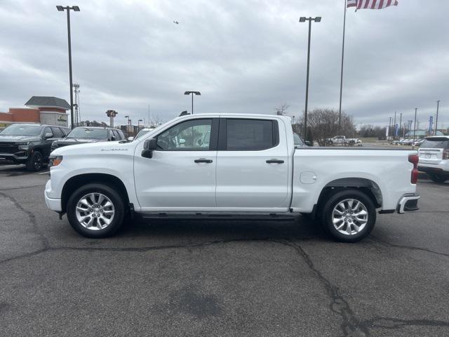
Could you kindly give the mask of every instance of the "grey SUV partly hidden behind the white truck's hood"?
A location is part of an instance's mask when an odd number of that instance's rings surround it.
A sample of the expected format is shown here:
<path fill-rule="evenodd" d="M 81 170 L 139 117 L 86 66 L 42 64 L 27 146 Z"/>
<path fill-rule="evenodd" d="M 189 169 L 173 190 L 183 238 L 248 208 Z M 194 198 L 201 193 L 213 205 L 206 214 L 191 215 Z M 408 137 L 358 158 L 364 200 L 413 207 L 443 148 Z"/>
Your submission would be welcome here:
<path fill-rule="evenodd" d="M 102 126 L 79 126 L 74 128 L 64 139 L 55 140 L 51 150 L 66 145 L 124 140 L 121 130 Z"/>

